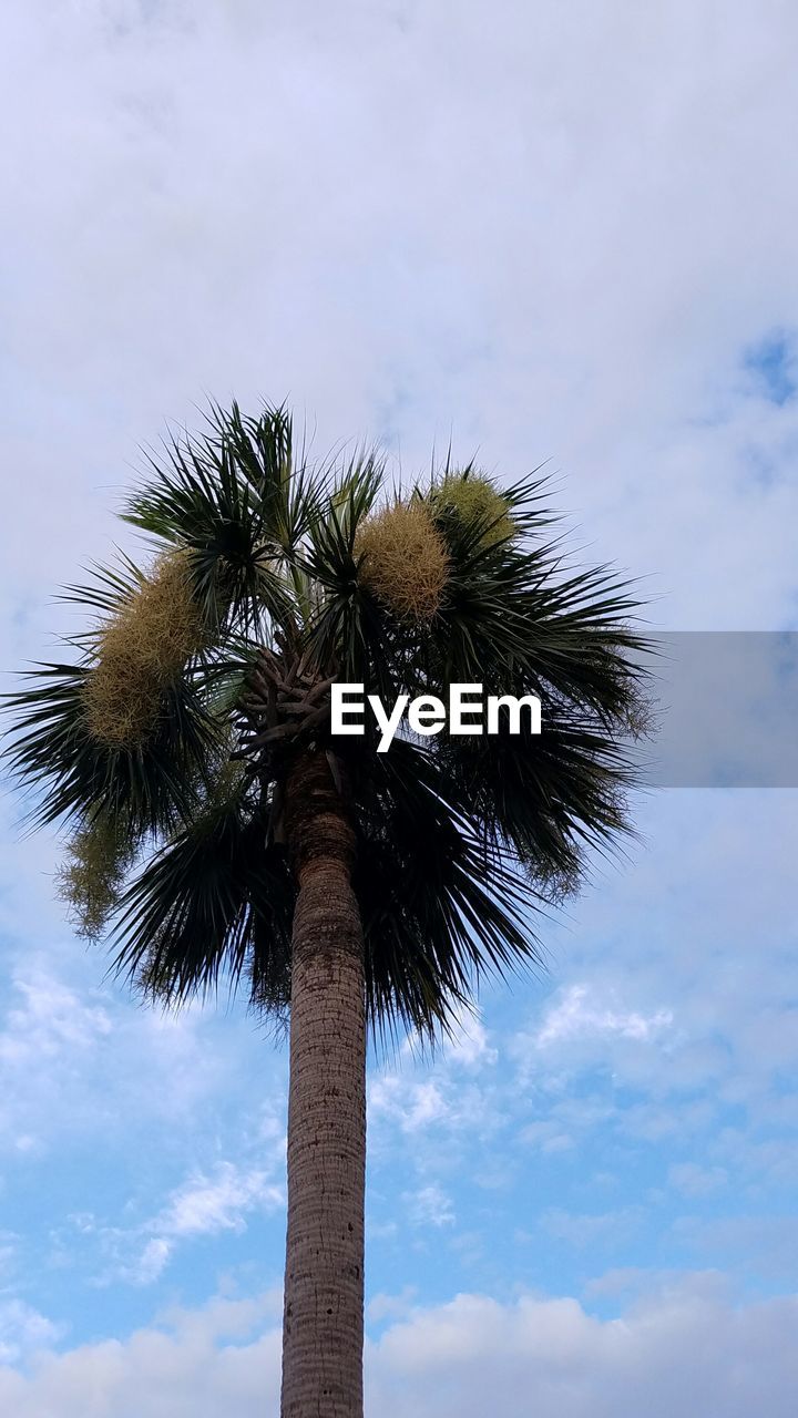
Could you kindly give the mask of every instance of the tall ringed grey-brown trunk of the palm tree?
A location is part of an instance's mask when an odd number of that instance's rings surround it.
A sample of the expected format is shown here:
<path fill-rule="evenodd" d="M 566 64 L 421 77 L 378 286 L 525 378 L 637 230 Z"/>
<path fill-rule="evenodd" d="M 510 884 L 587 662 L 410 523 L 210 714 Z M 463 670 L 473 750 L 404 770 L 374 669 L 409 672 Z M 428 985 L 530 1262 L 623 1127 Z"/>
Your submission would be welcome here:
<path fill-rule="evenodd" d="M 324 753 L 290 774 L 291 964 L 283 1418 L 362 1418 L 366 1028 L 354 832 Z"/>

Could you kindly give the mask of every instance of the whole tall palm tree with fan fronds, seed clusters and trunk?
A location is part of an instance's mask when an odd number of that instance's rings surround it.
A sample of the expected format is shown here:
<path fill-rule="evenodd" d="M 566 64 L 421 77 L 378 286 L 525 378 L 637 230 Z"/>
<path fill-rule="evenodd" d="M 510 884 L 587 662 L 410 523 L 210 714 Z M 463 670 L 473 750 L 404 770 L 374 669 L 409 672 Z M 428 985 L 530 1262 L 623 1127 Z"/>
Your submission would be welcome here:
<path fill-rule="evenodd" d="M 62 664 L 11 696 L 35 822 L 116 970 L 179 1004 L 227 978 L 290 1020 L 283 1415 L 362 1414 L 366 1035 L 452 1028 L 540 959 L 541 903 L 625 830 L 635 600 L 569 570 L 534 476 L 443 467 L 405 492 L 359 450 L 317 465 L 284 408 L 212 406 L 148 455 L 146 535 L 68 600 Z M 535 693 L 494 736 L 331 732 L 331 686 Z M 45 790 L 41 793 L 41 790 Z"/>

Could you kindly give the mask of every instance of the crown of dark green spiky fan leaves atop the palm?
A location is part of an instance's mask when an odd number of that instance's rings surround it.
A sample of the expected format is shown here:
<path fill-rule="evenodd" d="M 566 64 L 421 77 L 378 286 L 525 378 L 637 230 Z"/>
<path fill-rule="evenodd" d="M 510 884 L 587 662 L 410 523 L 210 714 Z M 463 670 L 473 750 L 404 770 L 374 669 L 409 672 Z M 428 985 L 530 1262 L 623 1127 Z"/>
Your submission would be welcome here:
<path fill-rule="evenodd" d="M 459 510 L 457 478 L 481 479 L 487 512 Z M 375 1034 L 433 1035 L 484 974 L 540 963 L 541 906 L 625 831 L 628 725 L 645 691 L 633 590 L 606 567 L 568 567 L 540 474 L 493 495 L 479 469 L 447 459 L 406 493 L 446 547 L 440 605 L 408 621 L 373 591 L 358 550 L 396 495 L 375 451 L 312 465 L 284 407 L 247 417 L 213 404 L 199 438 L 149 455 L 122 513 L 156 553 L 186 553 L 204 625 L 159 691 L 152 730 L 104 743 L 85 712 L 102 627 L 146 584 L 124 553 L 67 588 L 92 620 L 71 641 L 77 662 L 38 666 L 7 700 L 7 761 L 33 794 L 33 820 L 124 824 L 125 864 L 138 866 L 115 959 L 151 994 L 182 1001 L 226 978 L 285 1010 L 297 886 L 281 804 L 294 742 L 328 750 L 346 778 Z M 258 681 L 264 652 L 288 679 L 301 671 L 280 710 Z M 317 705 L 297 737 L 302 693 L 332 676 L 385 702 L 446 698 L 454 682 L 537 693 L 544 733 L 405 736 L 378 754 L 373 727 L 332 740 Z M 233 778 L 230 754 L 244 764 Z"/>

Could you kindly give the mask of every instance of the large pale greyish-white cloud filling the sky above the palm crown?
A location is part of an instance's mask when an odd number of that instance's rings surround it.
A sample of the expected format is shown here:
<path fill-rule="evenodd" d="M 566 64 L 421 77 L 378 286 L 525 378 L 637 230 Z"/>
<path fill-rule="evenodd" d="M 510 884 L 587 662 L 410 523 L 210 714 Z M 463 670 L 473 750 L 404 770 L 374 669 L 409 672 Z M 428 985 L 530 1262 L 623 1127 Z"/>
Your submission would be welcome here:
<path fill-rule="evenodd" d="M 551 455 L 666 615 L 784 611 L 795 408 L 743 354 L 798 323 L 794 11 L 484 16 L 14 7 L 6 445 L 47 489 L 9 537 L 17 597 L 97 550 L 141 438 L 236 389 L 290 393 L 322 442 Z"/>

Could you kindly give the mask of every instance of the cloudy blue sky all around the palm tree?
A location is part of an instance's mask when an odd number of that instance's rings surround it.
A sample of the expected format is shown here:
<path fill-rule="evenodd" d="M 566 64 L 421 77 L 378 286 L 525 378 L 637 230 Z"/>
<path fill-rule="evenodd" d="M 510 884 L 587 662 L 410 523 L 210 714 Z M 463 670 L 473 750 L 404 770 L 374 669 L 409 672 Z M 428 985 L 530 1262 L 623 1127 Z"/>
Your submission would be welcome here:
<path fill-rule="evenodd" d="M 788 0 L 7 0 L 0 665 L 209 396 L 547 464 L 666 631 L 798 630 Z M 11 678 L 6 676 L 10 686 Z M 285 1054 L 148 1012 L 0 800 L 0 1408 L 274 1411 Z M 789 788 L 638 837 L 434 1059 L 372 1059 L 369 1414 L 771 1418 L 798 1383 Z"/>

